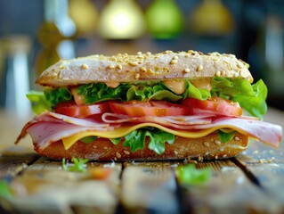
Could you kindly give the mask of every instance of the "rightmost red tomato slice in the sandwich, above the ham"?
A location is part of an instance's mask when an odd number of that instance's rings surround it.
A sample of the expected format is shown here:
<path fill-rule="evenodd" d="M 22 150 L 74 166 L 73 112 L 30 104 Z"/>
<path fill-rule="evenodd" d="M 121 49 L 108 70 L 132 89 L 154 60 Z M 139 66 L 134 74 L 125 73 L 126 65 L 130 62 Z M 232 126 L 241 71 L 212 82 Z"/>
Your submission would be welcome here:
<path fill-rule="evenodd" d="M 183 100 L 183 104 L 191 108 L 191 114 L 199 110 L 207 112 L 213 111 L 214 113 L 231 117 L 239 117 L 242 114 L 239 103 L 228 101 L 220 97 L 212 97 L 204 101 L 195 98 L 187 98 Z"/>

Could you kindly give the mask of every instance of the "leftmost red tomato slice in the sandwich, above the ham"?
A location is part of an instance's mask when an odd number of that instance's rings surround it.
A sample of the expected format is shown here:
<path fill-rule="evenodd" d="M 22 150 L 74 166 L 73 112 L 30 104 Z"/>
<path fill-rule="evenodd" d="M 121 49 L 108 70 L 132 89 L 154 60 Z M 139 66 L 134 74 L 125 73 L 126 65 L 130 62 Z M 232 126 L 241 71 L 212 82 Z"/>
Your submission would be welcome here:
<path fill-rule="evenodd" d="M 94 114 L 101 114 L 109 111 L 108 103 L 94 103 L 90 105 L 77 105 L 74 101 L 58 103 L 55 112 L 74 118 L 86 118 Z"/>

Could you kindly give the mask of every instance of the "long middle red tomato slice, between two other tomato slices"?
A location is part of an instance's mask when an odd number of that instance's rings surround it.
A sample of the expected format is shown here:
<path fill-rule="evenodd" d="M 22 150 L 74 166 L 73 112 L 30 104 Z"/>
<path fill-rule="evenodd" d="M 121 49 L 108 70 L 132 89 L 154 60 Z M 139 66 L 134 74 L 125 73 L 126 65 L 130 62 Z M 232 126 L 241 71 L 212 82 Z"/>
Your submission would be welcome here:
<path fill-rule="evenodd" d="M 189 108 L 181 104 L 166 101 L 129 101 L 124 103 L 109 102 L 110 110 L 132 117 L 142 116 L 179 116 L 189 114 Z"/>

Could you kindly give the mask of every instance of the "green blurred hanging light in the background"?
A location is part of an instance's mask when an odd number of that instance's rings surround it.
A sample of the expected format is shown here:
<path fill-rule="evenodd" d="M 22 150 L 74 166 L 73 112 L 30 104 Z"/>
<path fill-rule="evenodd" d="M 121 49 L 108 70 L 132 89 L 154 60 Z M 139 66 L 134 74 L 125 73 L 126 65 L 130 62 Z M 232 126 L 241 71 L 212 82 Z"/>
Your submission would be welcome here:
<path fill-rule="evenodd" d="M 152 37 L 172 38 L 183 31 L 183 15 L 174 0 L 155 0 L 145 16 Z"/>

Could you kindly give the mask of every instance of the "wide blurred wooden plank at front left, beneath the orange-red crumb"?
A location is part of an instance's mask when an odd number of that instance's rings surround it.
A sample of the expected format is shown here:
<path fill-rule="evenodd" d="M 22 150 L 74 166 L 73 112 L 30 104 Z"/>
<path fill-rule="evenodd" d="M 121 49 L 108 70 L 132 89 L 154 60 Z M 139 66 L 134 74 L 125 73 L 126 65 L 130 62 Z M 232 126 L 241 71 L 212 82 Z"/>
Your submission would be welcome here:
<path fill-rule="evenodd" d="M 105 169 L 107 177 L 100 179 L 98 173 Z M 114 213 L 120 171 L 118 163 L 89 162 L 86 172 L 70 172 L 62 169 L 61 161 L 41 158 L 12 181 L 16 193 L 12 205 L 15 210 L 32 213 L 73 213 L 82 208 Z"/>

